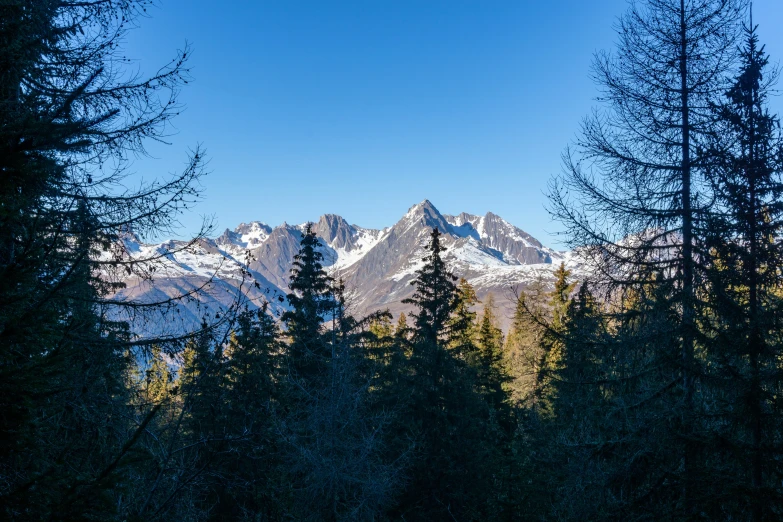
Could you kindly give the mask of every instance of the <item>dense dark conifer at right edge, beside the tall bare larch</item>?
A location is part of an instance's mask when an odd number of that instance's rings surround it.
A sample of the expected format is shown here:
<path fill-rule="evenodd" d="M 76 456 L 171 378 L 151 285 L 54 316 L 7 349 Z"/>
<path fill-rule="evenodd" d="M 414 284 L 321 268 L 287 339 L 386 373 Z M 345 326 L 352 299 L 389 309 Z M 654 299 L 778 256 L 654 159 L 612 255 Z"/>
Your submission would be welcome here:
<path fill-rule="evenodd" d="M 716 109 L 717 204 L 706 227 L 713 263 L 702 319 L 709 414 L 716 420 L 703 428 L 712 455 L 704 489 L 705 496 L 725 499 L 713 503 L 715 518 L 736 512 L 769 520 L 783 515 L 780 484 L 772 479 L 783 456 L 782 412 L 774 398 L 783 387 L 783 345 L 775 333 L 783 313 L 783 136 L 767 108 L 776 71 L 752 20 L 744 40 L 738 74 Z"/>

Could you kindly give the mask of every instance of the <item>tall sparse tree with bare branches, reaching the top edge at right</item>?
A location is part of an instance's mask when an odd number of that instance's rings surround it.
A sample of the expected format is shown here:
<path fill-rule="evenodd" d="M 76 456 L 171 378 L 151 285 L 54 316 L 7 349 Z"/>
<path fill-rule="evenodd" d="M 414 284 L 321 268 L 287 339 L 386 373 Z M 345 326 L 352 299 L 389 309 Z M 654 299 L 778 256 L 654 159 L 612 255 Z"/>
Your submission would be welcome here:
<path fill-rule="evenodd" d="M 659 433 L 658 441 L 666 447 L 662 453 L 676 451 L 680 461 L 660 488 L 671 501 L 669 511 L 686 518 L 699 510 L 703 458 L 695 442 L 703 404 L 697 396 L 703 373 L 697 315 L 709 259 L 703 220 L 713 200 L 711 107 L 736 56 L 745 4 L 632 2 L 618 24 L 617 54 L 595 60 L 606 110 L 584 121 L 551 191 L 552 210 L 568 227 L 574 246 L 583 247 L 607 301 L 621 301 L 629 287 L 659 284 L 661 278 L 671 283 L 670 292 L 658 297 L 670 299 L 670 309 L 680 312 L 673 323 L 679 359 L 661 354 L 658 393 L 676 397 L 678 404 L 669 410 L 669 421 L 662 423 L 669 431 Z M 679 372 L 676 385 L 668 382 L 672 371 Z"/>

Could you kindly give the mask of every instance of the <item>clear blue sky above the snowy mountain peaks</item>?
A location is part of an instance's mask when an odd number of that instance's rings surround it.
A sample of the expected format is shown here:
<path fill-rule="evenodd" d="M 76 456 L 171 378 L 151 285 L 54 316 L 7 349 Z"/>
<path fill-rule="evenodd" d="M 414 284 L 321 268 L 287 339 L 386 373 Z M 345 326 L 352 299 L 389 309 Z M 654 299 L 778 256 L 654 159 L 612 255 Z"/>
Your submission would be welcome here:
<path fill-rule="evenodd" d="M 219 227 L 336 213 L 391 225 L 427 198 L 493 211 L 558 247 L 547 180 L 594 105 L 592 54 L 625 0 L 160 0 L 125 47 L 152 72 L 190 42 L 194 81 L 172 145 L 144 178 L 204 145 L 205 199 L 182 216 Z M 756 0 L 773 61 L 783 2 Z M 774 108 L 783 108 L 781 100 Z"/>

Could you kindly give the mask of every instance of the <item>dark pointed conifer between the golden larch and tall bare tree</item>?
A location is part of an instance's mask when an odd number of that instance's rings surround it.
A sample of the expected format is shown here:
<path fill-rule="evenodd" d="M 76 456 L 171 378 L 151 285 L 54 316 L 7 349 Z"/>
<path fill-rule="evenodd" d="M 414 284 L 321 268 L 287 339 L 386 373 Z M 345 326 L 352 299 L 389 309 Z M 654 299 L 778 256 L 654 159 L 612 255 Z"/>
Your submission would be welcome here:
<path fill-rule="evenodd" d="M 555 297 L 554 301 L 560 300 Z M 612 504 L 612 484 L 594 466 L 612 469 L 613 464 L 600 454 L 602 445 L 611 444 L 617 433 L 605 400 L 604 383 L 612 378 L 612 361 L 606 360 L 611 337 L 606 336 L 602 310 L 587 284 L 568 299 L 552 334 L 558 337 L 560 350 L 549 383 L 553 415 L 536 434 L 536 443 L 541 445 L 538 454 L 543 456 L 537 467 L 546 470 L 550 487 L 559 487 L 547 516 L 603 518 L 611 512 L 607 506 Z"/>

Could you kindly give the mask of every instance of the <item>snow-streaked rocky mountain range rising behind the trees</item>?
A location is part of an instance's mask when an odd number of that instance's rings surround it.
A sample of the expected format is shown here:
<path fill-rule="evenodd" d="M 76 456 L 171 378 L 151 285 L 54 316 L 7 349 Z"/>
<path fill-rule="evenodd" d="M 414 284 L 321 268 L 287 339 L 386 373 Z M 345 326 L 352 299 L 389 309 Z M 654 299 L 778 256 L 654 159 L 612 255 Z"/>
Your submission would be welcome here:
<path fill-rule="evenodd" d="M 537 279 L 551 284 L 552 272 L 561 262 L 580 269 L 570 252 L 543 246 L 496 214 L 443 215 L 428 200 L 382 230 L 352 225 L 334 214 L 321 216 L 313 225 L 324 265 L 345 281 L 349 306 L 356 314 L 386 308 L 395 315 L 409 311 L 402 300 L 413 293 L 410 282 L 423 264 L 424 247 L 434 227 L 443 233 L 447 265 L 476 288 L 479 299 L 495 295 L 504 326 L 513 313 L 514 290 Z M 164 266 L 156 270 L 151 284 L 130 278 L 125 293 L 152 301 L 210 282 L 203 296 L 179 305 L 183 309 L 177 317 L 186 325 L 200 321 L 207 311 L 219 312 L 239 295 L 251 306 L 267 300 L 279 313 L 285 307 L 282 296 L 287 293 L 291 262 L 304 228 L 304 224 L 271 227 L 252 221 L 188 248 L 178 241 L 143 244 L 130 236 L 125 240 L 130 255 L 156 253 Z"/>

